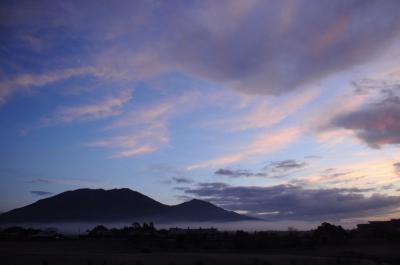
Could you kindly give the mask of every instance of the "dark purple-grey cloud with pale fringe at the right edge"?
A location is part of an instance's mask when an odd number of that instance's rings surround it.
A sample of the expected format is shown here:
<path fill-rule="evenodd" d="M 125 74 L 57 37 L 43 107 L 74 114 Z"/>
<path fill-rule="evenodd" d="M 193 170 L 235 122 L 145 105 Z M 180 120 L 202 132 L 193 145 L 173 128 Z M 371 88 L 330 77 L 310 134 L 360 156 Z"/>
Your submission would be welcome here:
<path fill-rule="evenodd" d="M 352 81 L 353 91 L 321 115 L 315 129 L 322 140 L 351 136 L 375 149 L 400 143 L 400 71 L 372 77 Z"/>

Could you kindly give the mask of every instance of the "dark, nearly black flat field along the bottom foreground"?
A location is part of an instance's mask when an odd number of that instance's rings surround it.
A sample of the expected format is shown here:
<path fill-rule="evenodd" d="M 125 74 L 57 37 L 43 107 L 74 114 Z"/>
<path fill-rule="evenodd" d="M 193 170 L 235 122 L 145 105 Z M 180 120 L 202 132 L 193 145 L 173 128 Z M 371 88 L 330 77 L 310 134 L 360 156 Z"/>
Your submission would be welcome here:
<path fill-rule="evenodd" d="M 146 251 L 122 239 L 0 241 L 2 265 L 306 265 L 398 264 L 397 245 L 329 246 L 271 251 Z"/>

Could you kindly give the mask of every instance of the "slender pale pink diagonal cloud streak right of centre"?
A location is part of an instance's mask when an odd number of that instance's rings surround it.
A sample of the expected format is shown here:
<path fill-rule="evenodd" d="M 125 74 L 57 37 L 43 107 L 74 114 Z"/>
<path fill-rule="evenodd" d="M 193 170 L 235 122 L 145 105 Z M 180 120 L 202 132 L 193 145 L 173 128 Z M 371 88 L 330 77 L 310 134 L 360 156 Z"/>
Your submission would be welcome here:
<path fill-rule="evenodd" d="M 299 128 L 283 128 L 272 132 L 263 132 L 253 138 L 249 143 L 245 144 L 237 152 L 222 155 L 197 164 L 192 164 L 188 166 L 187 169 L 193 170 L 205 167 L 221 167 L 239 162 L 249 157 L 271 154 L 291 144 L 299 135 Z"/>

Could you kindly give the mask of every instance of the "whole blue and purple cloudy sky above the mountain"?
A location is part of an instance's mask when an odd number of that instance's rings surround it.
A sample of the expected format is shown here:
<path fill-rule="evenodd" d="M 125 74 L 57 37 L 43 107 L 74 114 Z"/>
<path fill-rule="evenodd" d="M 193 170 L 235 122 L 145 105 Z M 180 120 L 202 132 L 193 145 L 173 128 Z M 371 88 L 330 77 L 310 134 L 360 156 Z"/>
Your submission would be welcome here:
<path fill-rule="evenodd" d="M 78 188 L 400 216 L 400 1 L 1 1 L 0 212 Z"/>

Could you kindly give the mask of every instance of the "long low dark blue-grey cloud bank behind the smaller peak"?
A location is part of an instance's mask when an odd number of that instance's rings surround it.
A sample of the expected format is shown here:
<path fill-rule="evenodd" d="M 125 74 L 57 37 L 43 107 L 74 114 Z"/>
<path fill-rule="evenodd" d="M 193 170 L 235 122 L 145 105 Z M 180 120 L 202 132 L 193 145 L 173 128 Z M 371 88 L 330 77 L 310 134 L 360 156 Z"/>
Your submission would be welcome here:
<path fill-rule="evenodd" d="M 268 220 L 339 220 L 385 213 L 400 206 L 399 196 L 367 196 L 363 192 L 370 190 L 359 188 L 245 187 L 200 183 L 183 191 L 188 196 L 209 200 L 226 209 L 245 210 Z"/>

